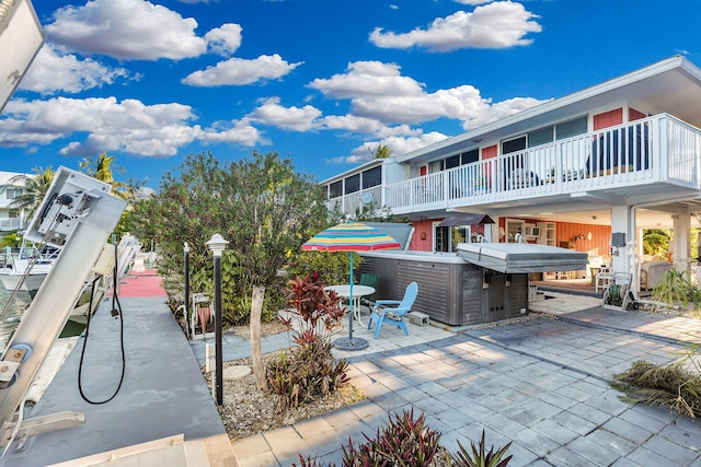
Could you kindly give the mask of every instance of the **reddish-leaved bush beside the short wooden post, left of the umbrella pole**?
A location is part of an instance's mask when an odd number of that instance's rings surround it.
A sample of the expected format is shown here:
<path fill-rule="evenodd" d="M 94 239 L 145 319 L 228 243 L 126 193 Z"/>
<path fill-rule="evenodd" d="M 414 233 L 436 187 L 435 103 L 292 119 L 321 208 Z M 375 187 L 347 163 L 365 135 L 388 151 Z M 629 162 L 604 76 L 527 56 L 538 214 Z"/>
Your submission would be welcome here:
<path fill-rule="evenodd" d="M 348 363 L 335 361 L 331 353 L 330 331 L 343 318 L 341 297 L 325 291 L 324 284 L 310 276 L 289 281 L 290 299 L 297 320 L 296 346 L 289 355 L 281 353 L 267 365 L 268 388 L 277 396 L 277 410 L 314 400 L 347 384 Z M 292 319 L 285 323 L 292 327 Z"/>

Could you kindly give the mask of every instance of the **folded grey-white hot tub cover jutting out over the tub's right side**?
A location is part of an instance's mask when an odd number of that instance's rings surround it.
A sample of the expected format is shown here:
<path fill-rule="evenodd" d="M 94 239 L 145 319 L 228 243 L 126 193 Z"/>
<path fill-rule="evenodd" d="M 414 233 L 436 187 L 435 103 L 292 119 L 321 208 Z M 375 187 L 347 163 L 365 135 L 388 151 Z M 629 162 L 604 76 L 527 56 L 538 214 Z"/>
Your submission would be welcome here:
<path fill-rule="evenodd" d="M 467 261 L 504 273 L 579 270 L 588 259 L 586 253 L 530 243 L 460 243 L 457 249 Z"/>

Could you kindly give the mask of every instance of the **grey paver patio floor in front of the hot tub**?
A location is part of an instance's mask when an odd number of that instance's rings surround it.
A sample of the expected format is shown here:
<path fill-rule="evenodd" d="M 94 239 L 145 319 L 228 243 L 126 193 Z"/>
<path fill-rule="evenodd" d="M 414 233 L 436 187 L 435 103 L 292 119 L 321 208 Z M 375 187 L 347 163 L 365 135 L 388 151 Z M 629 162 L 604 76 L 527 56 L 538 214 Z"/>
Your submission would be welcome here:
<path fill-rule="evenodd" d="M 239 465 L 290 466 L 298 453 L 341 465 L 348 439 L 363 442 L 390 413 L 414 409 L 450 452 L 482 430 L 487 445 L 513 442 L 510 467 L 701 466 L 698 421 L 623 402 L 609 386 L 635 360 L 670 362 L 685 342 L 701 342 L 701 320 L 553 295 L 531 306 L 550 316 L 501 326 L 410 325 L 409 337 L 387 326 L 375 340 L 356 324 L 354 336 L 368 349 L 334 354 L 350 362 L 352 382 L 367 399 L 235 441 Z"/>

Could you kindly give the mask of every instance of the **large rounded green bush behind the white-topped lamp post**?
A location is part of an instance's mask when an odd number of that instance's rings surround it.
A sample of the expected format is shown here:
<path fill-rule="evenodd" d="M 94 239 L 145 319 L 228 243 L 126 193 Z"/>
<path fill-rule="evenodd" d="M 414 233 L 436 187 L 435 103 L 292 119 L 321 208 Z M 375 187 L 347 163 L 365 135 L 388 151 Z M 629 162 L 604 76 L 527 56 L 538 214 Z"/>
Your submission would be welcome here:
<path fill-rule="evenodd" d="M 307 240 L 335 223 L 325 201 L 317 180 L 277 153 L 253 151 L 227 163 L 202 153 L 165 173 L 156 196 L 135 203 L 127 227 L 142 241 L 154 241 L 166 290 L 180 295 L 184 243 L 189 245 L 191 291 L 208 292 L 212 256 L 205 243 L 221 234 L 229 242 L 222 258 L 222 316 L 244 324 L 253 287 L 265 288 L 265 311 L 285 305 L 280 270 L 296 260 Z"/>

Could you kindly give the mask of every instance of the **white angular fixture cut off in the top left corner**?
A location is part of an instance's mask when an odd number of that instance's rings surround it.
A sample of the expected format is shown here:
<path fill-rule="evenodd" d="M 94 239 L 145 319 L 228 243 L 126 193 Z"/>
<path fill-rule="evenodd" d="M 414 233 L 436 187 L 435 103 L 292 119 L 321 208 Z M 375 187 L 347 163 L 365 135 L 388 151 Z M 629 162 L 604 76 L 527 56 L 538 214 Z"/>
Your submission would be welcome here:
<path fill-rule="evenodd" d="M 0 0 L 0 113 L 44 44 L 30 0 Z"/>

